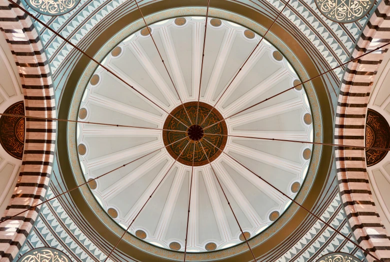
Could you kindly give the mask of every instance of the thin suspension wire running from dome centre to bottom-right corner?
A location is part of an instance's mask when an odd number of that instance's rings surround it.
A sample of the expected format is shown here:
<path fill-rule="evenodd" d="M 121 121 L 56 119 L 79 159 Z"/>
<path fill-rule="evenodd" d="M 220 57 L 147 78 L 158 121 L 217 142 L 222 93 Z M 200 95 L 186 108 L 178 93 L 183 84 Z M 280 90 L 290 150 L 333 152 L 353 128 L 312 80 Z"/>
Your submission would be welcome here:
<path fill-rule="evenodd" d="M 289 196 L 287 196 L 286 194 L 284 194 L 282 191 L 280 191 L 279 189 L 277 189 L 276 187 L 274 187 L 272 184 L 270 184 L 269 182 L 267 182 L 265 179 L 263 179 L 262 177 L 260 177 L 259 175 L 257 175 L 256 173 L 254 173 L 253 171 L 251 171 L 249 168 L 247 168 L 246 166 L 244 166 L 243 164 L 241 164 L 238 160 L 236 160 L 235 158 L 233 158 L 232 156 L 230 156 L 229 154 L 227 154 L 226 152 L 224 152 L 223 150 L 221 150 L 220 148 L 214 146 L 210 141 L 208 141 L 207 139 L 204 138 L 204 140 L 211 144 L 213 147 L 215 147 L 216 149 L 218 149 L 219 151 L 221 151 L 223 154 L 225 154 L 226 156 L 228 156 L 231 160 L 233 160 L 234 162 L 236 162 L 237 164 L 239 164 L 240 166 L 242 166 L 244 169 L 246 169 L 247 171 L 249 171 L 250 173 L 252 173 L 253 175 L 255 175 L 256 177 L 258 177 L 259 179 L 261 179 L 265 184 L 267 184 L 268 186 L 270 186 L 271 188 L 273 188 L 274 190 L 276 190 L 277 192 L 279 192 L 281 195 L 283 195 L 284 197 L 286 197 L 287 199 L 289 199 L 290 201 L 294 202 L 296 205 L 298 205 L 300 208 L 304 209 L 305 211 L 307 211 L 310 215 L 314 216 L 317 220 L 319 220 L 320 222 L 322 222 L 323 224 L 325 224 L 327 227 L 329 227 L 330 229 L 334 230 L 335 232 L 337 232 L 339 235 L 341 235 L 341 237 L 343 237 L 345 240 L 349 241 L 350 243 L 352 243 L 355 247 L 359 248 L 360 250 L 362 250 L 363 252 L 367 253 L 370 257 L 372 257 L 374 260 L 377 260 L 379 261 L 375 256 L 371 255 L 368 251 L 364 250 L 362 247 L 360 247 L 358 244 L 354 243 L 353 241 L 351 241 L 349 238 L 345 237 L 344 235 L 341 234 L 341 232 L 339 232 L 338 230 L 336 230 L 335 228 L 333 228 L 331 225 L 329 225 L 328 223 L 326 223 L 324 220 L 322 220 L 320 217 L 318 217 L 317 215 L 315 215 L 314 213 L 312 213 L 311 211 L 309 211 L 308 209 L 306 209 L 305 207 L 303 207 L 301 204 L 299 204 L 298 202 L 296 202 L 294 199 L 290 198 Z"/>

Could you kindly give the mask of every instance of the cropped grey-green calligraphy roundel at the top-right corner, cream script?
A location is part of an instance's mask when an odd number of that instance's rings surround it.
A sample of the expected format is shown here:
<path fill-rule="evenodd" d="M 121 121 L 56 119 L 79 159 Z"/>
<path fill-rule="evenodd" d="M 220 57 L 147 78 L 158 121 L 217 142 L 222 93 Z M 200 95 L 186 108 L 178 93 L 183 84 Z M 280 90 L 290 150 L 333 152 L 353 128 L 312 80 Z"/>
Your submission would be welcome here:
<path fill-rule="evenodd" d="M 350 23 L 363 17 L 373 0 L 315 0 L 323 15 L 335 22 Z"/>

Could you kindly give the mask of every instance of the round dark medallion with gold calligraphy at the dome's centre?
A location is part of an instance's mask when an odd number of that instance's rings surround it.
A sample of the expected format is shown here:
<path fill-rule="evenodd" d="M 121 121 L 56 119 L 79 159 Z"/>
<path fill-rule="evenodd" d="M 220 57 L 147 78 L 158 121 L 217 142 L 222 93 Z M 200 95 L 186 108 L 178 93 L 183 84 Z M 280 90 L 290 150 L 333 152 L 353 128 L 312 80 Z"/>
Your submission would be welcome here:
<path fill-rule="evenodd" d="M 192 159 L 194 166 L 214 161 L 222 153 L 227 141 L 227 126 L 218 110 L 203 102 L 199 102 L 197 108 L 197 102 L 177 106 L 167 116 L 162 131 L 169 155 L 186 166 L 192 166 Z M 217 124 L 210 126 L 214 123 Z"/>

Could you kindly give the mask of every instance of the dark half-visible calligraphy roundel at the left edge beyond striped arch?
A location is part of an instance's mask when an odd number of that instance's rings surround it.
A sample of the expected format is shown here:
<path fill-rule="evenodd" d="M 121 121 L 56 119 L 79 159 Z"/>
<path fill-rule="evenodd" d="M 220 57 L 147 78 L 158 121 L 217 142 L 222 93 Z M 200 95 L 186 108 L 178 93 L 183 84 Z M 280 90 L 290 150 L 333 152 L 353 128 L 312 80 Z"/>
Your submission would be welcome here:
<path fill-rule="evenodd" d="M 4 114 L 24 115 L 23 101 L 9 106 Z M 20 159 L 24 148 L 24 118 L 17 116 L 0 117 L 0 143 L 4 150 L 14 158 Z"/>

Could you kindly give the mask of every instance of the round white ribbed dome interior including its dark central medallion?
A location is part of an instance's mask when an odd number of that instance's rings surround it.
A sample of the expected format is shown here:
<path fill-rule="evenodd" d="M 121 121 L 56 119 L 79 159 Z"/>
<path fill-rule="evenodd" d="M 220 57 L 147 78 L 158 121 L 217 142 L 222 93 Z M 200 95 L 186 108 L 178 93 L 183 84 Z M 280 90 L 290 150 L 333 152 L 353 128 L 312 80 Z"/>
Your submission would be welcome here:
<path fill-rule="evenodd" d="M 204 17 L 180 17 L 150 25 L 178 95 L 146 28 L 123 40 L 102 63 L 152 102 L 101 67 L 93 73 L 78 119 L 146 129 L 78 124 L 76 135 L 86 180 L 133 161 L 90 183 L 102 208 L 122 227 L 127 228 L 162 181 L 130 228 L 131 234 L 150 244 L 184 251 L 191 188 L 187 252 L 218 250 L 244 241 L 216 178 L 245 237 L 259 234 L 290 204 L 226 154 L 294 198 L 304 183 L 311 146 L 245 137 L 312 141 L 313 130 L 302 88 L 240 112 L 299 79 L 283 55 L 263 39 L 224 92 L 260 36 L 215 18 L 207 21 L 197 113 L 204 21 Z M 193 173 L 192 159 L 196 159 Z"/>

